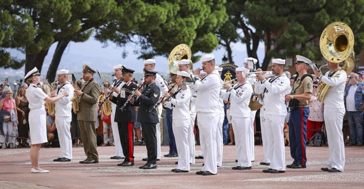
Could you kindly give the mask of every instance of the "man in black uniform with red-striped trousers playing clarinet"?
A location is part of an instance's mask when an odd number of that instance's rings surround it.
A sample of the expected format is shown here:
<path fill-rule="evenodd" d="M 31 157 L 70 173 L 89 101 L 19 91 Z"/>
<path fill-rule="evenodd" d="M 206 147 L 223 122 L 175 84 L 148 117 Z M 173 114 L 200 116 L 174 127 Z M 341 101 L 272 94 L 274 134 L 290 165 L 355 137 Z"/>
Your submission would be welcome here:
<path fill-rule="evenodd" d="M 121 164 L 118 164 L 118 166 L 123 167 L 134 166 L 133 128 L 134 122 L 136 121 L 135 107 L 133 105 L 134 98 L 131 100 L 131 103 L 128 103 L 123 111 L 120 110 L 120 107 L 122 107 L 128 100 L 128 95 L 138 88 L 137 85 L 132 82 L 133 73 L 134 70 L 123 66 L 122 74 L 124 84 L 122 85 L 121 89 L 126 90 L 119 90 L 118 88 L 114 87 L 112 91 L 118 94 L 118 96 L 110 98 L 113 103 L 117 104 L 115 119 L 113 121 L 118 123 L 120 142 L 125 157 L 125 160 Z"/>

